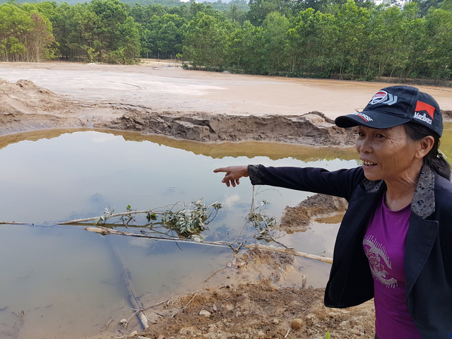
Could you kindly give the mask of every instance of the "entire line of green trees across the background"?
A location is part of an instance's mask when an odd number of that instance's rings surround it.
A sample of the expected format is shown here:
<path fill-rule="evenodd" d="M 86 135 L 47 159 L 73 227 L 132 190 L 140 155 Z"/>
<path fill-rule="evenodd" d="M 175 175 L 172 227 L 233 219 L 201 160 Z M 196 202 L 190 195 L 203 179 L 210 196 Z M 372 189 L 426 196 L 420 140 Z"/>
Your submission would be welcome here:
<path fill-rule="evenodd" d="M 182 58 L 197 69 L 316 78 L 451 81 L 452 0 L 234 0 L 174 6 L 0 5 L 0 60 L 130 64 Z"/>

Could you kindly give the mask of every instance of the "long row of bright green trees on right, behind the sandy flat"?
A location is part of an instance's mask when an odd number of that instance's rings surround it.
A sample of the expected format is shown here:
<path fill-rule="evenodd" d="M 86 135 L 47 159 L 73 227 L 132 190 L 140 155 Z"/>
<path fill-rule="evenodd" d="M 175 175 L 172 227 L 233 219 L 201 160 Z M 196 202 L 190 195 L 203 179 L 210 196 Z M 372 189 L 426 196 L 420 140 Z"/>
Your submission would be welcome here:
<path fill-rule="evenodd" d="M 294 5 L 283 0 L 251 1 L 249 20 L 223 30 L 227 46 L 220 54 L 227 63 L 221 67 L 209 58 L 221 44 L 211 32 L 227 19 L 218 18 L 202 33 L 200 25 L 205 23 L 192 19 L 190 32 L 200 33 L 184 41 L 184 59 L 196 67 L 241 73 L 365 81 L 451 80 L 451 12 L 431 8 L 421 17 L 414 2 L 403 8 L 387 2 L 338 4 L 322 3 L 319 8 L 325 13 L 307 8 L 293 14 Z"/>

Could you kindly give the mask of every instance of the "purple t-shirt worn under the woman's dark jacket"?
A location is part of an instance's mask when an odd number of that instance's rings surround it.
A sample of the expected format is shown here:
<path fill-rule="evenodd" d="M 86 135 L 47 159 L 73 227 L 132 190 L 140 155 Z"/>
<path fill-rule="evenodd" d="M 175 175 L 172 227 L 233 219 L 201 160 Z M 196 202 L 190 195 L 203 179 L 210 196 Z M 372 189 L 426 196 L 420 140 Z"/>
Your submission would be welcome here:
<path fill-rule="evenodd" d="M 411 205 L 389 210 L 383 197 L 362 242 L 374 277 L 375 329 L 379 339 L 422 339 L 406 302 L 405 243 L 410 214 Z"/>

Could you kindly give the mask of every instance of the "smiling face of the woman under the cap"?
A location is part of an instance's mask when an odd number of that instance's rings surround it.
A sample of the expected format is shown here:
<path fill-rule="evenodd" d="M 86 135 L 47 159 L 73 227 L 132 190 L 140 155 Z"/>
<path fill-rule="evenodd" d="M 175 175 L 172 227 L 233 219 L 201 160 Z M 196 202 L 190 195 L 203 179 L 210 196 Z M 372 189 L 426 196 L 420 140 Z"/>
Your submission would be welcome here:
<path fill-rule="evenodd" d="M 356 150 L 367 179 L 399 181 L 418 173 L 422 165 L 422 158 L 416 157 L 418 144 L 401 125 L 389 129 L 359 126 Z"/>

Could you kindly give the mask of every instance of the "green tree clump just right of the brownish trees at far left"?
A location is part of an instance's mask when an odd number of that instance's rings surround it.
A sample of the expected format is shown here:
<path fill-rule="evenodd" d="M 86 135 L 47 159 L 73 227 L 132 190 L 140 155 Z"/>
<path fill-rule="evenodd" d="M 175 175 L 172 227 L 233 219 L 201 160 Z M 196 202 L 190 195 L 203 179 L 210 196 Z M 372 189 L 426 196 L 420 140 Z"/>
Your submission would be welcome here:
<path fill-rule="evenodd" d="M 64 59 L 131 64 L 140 57 L 138 26 L 119 0 L 61 4 L 53 19 Z"/>

